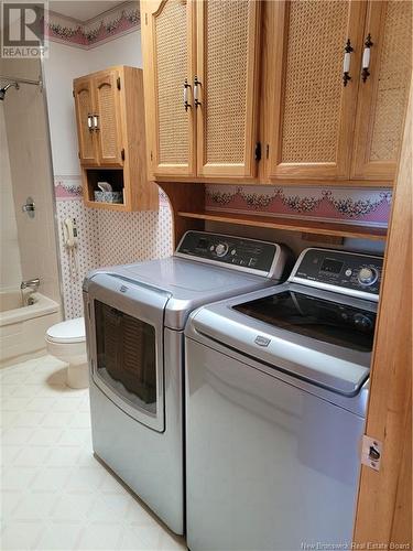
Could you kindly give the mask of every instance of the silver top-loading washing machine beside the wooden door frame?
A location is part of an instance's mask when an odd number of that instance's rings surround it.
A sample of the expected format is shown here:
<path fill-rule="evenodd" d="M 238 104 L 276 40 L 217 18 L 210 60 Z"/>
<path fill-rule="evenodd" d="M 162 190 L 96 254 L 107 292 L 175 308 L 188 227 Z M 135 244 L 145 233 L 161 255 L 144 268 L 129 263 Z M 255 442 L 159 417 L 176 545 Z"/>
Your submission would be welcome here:
<path fill-rule="evenodd" d="M 286 283 L 193 312 L 191 551 L 349 548 L 381 272 L 306 249 Z"/>

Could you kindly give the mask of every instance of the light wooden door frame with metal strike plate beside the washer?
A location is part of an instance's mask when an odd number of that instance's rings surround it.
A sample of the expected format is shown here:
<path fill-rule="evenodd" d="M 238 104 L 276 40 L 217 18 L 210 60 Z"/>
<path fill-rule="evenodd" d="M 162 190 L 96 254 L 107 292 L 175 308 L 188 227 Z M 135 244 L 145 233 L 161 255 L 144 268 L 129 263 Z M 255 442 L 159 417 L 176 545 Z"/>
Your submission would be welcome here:
<path fill-rule="evenodd" d="M 366 434 L 382 442 L 379 471 L 361 467 L 354 549 L 412 549 L 413 80 L 394 187 Z M 387 547 L 370 547 L 380 544 Z"/>

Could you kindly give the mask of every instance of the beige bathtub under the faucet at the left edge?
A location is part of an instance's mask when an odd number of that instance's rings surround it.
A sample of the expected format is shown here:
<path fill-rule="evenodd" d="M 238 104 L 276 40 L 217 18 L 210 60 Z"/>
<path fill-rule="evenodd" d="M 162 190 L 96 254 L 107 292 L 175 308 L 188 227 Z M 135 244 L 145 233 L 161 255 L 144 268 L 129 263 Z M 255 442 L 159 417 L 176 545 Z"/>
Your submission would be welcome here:
<path fill-rule="evenodd" d="M 0 292 L 0 367 L 35 356 L 45 349 L 46 329 L 62 320 L 57 302 L 41 293 Z"/>

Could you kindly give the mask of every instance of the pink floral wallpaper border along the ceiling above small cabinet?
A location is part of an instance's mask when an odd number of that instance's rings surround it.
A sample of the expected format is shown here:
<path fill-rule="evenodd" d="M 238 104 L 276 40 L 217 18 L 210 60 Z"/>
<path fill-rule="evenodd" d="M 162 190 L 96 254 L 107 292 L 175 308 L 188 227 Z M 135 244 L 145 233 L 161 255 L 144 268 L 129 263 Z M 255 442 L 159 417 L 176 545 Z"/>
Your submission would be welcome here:
<path fill-rule="evenodd" d="M 48 12 L 48 40 L 89 50 L 141 28 L 139 2 L 127 2 L 86 23 Z"/>

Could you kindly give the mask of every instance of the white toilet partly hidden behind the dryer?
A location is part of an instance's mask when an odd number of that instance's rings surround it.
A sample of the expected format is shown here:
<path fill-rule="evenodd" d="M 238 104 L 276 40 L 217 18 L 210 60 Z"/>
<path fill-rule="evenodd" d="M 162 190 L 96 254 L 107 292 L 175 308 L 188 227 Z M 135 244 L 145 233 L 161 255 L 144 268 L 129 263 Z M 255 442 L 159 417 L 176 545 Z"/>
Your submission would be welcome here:
<path fill-rule="evenodd" d="M 48 354 L 68 364 L 68 387 L 87 388 L 89 386 L 84 317 L 67 320 L 48 327 L 46 346 Z"/>

